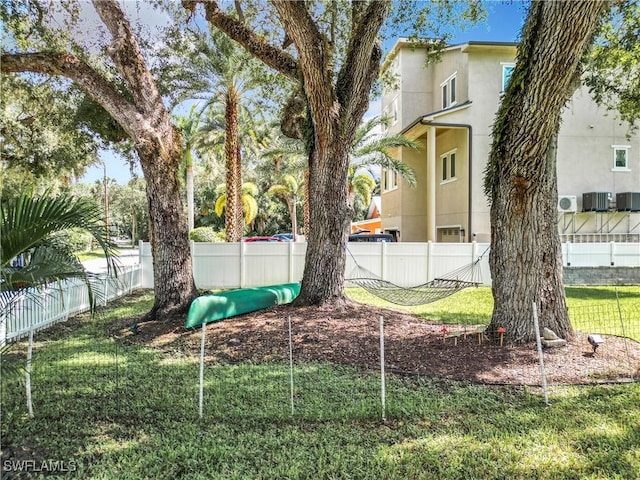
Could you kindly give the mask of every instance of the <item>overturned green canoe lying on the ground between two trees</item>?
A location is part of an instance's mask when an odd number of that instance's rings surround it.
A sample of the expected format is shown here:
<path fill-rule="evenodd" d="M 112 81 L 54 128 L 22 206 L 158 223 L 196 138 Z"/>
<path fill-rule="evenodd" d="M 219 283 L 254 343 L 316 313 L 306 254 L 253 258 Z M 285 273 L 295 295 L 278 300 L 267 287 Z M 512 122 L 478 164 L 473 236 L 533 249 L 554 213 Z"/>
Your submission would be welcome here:
<path fill-rule="evenodd" d="M 299 293 L 299 283 L 284 283 L 202 295 L 191 303 L 185 326 L 186 328 L 197 327 L 203 323 L 217 322 L 234 315 L 291 303 Z"/>

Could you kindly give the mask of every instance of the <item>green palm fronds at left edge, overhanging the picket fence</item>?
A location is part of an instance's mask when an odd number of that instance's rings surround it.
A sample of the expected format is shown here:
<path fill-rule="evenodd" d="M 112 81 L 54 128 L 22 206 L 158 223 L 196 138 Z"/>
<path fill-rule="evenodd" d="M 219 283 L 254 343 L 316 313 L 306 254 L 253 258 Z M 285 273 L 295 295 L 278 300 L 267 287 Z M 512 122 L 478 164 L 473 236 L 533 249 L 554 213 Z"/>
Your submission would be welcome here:
<path fill-rule="evenodd" d="M 88 231 L 115 271 L 114 250 L 105 230 L 102 209 L 86 197 L 50 192 L 36 196 L 24 192 L 0 204 L 0 321 L 12 314 L 15 302 L 34 295 L 43 286 L 68 278 L 82 279 L 95 307 L 91 275 L 70 248 L 55 234 L 69 228 Z M 4 337 L 3 337 L 4 338 Z"/>

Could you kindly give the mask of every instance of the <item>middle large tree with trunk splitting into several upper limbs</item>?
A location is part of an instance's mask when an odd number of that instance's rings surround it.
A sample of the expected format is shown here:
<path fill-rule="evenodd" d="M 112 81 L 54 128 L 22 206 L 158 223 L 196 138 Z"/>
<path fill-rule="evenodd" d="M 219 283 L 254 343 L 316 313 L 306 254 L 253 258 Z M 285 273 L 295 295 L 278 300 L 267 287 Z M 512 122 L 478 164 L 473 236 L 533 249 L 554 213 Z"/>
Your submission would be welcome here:
<path fill-rule="evenodd" d="M 195 9 L 198 2 L 183 3 Z M 335 38 L 314 17 L 312 2 L 271 2 L 284 28 L 283 48 L 267 42 L 241 16 L 225 12 L 217 2 L 202 3 L 212 25 L 300 85 L 300 98 L 293 99 L 289 107 L 299 107 L 290 109 L 302 120 L 298 136 L 307 145 L 309 196 L 314 200 L 298 302 L 340 303 L 345 298 L 344 246 L 351 218 L 346 188 L 349 153 L 378 76 L 382 55 L 378 33 L 391 2 L 351 3 L 350 30 L 340 59 Z M 295 57 L 284 48 L 289 42 L 296 49 Z"/>

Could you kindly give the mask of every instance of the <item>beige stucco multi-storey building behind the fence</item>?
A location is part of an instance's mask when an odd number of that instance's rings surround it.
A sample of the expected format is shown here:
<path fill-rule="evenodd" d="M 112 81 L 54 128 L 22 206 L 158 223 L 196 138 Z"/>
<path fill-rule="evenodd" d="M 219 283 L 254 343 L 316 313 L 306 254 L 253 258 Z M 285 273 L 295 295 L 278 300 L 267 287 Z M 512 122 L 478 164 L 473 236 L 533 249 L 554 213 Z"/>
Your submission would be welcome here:
<path fill-rule="evenodd" d="M 389 133 L 420 141 L 399 159 L 418 179 L 409 187 L 382 172 L 382 227 L 405 242 L 490 240 L 483 190 L 491 126 L 514 66 L 516 44 L 448 47 L 425 54 L 399 40 L 383 70 L 397 79 L 382 96 Z M 598 107 L 586 88 L 564 110 L 558 138 L 558 229 L 563 240 L 640 241 L 640 137 Z M 586 195 L 585 195 L 586 194 Z"/>

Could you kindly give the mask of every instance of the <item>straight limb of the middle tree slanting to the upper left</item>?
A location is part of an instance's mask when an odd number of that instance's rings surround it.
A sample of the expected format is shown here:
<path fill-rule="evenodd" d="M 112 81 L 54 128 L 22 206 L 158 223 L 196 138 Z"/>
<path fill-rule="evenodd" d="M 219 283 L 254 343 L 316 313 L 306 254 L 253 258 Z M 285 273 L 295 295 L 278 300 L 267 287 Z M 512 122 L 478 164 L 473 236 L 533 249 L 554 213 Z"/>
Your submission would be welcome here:
<path fill-rule="evenodd" d="M 218 2 L 203 1 L 205 18 L 212 25 L 227 34 L 242 45 L 254 57 L 283 75 L 299 80 L 298 62 L 284 50 L 269 44 L 263 37 L 256 35 L 251 29 L 220 9 Z M 185 8 L 190 8 L 193 2 L 183 2 Z"/>

